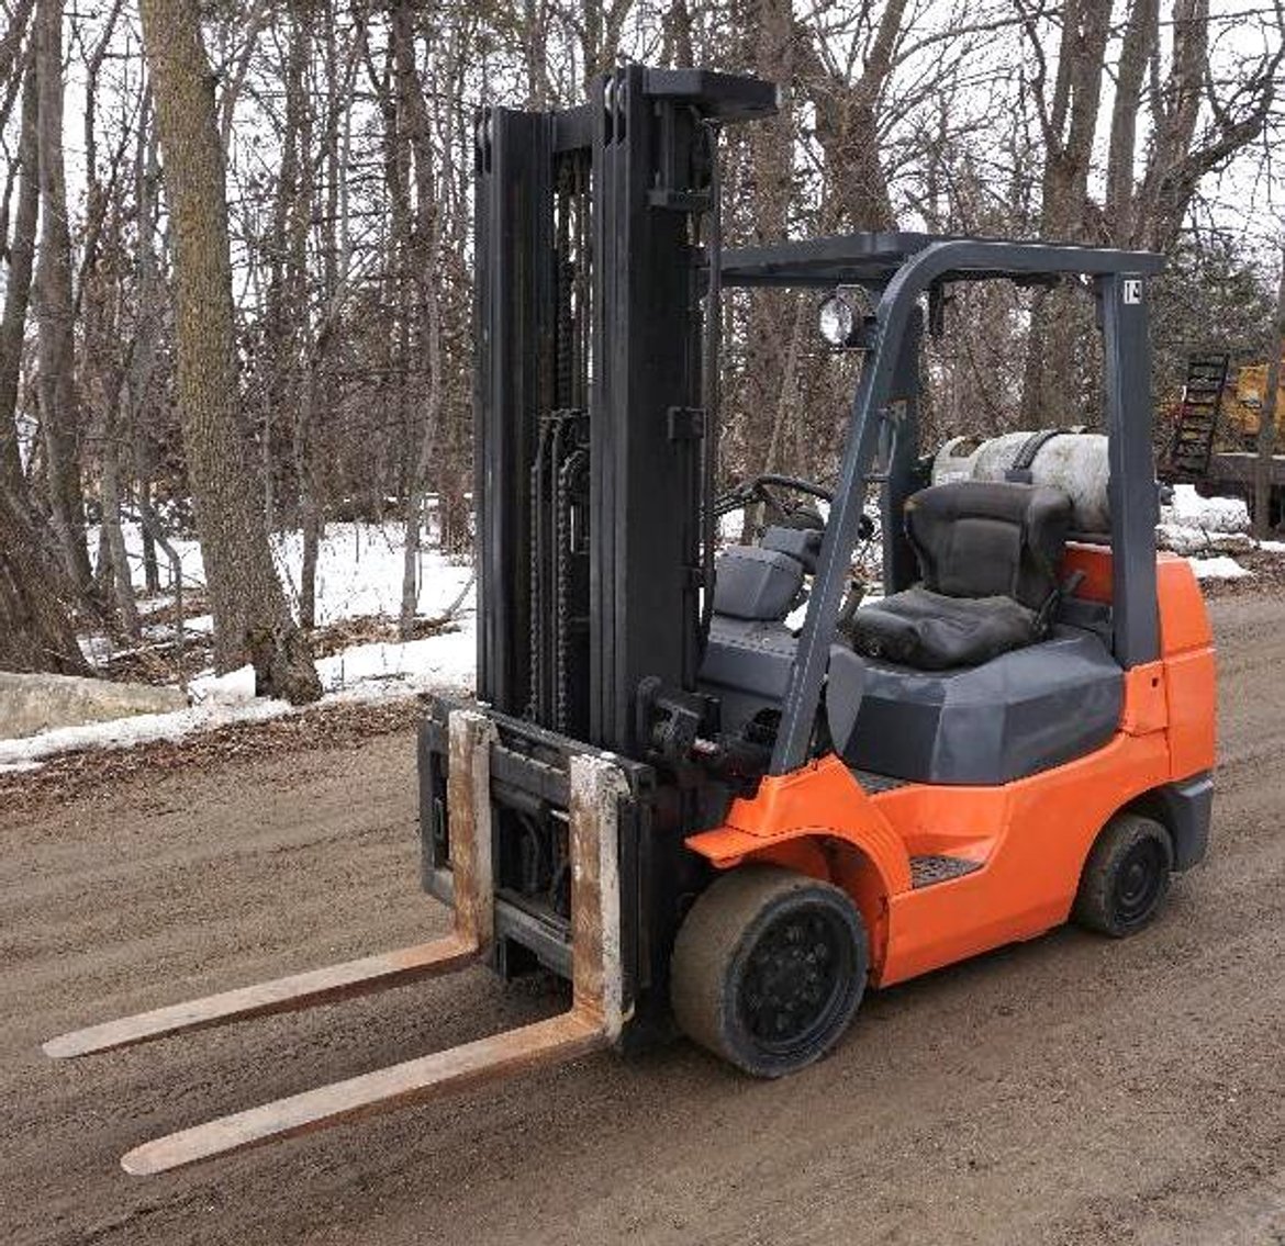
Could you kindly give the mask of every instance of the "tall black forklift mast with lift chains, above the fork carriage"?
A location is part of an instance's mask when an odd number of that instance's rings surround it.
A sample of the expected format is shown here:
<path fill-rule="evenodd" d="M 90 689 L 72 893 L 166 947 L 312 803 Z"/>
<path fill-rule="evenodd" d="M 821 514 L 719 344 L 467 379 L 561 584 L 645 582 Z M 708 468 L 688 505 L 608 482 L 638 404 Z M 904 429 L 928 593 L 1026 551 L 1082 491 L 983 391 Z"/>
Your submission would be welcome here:
<path fill-rule="evenodd" d="M 477 119 L 478 696 L 637 757 L 644 678 L 695 689 L 716 412 L 716 144 L 772 83 L 623 66 Z"/>

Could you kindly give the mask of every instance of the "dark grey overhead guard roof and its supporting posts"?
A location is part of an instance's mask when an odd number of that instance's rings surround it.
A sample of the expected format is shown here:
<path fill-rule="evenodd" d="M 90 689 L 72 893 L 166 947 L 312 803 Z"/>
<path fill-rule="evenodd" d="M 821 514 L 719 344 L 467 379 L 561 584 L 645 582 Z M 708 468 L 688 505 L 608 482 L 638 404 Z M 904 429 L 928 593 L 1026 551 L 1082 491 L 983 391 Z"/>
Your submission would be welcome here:
<path fill-rule="evenodd" d="M 725 285 L 882 288 L 870 347 L 852 403 L 835 502 L 821 554 L 770 772 L 806 764 L 834 642 L 865 486 L 889 407 L 900 346 L 919 299 L 948 281 L 1087 276 L 1101 304 L 1104 416 L 1112 511 L 1112 619 L 1117 660 L 1126 668 L 1159 656 L 1155 523 L 1159 495 L 1151 447 L 1150 343 L 1145 280 L 1164 266 L 1150 252 L 1055 243 L 1015 243 L 926 234 L 853 234 L 727 252 Z"/>

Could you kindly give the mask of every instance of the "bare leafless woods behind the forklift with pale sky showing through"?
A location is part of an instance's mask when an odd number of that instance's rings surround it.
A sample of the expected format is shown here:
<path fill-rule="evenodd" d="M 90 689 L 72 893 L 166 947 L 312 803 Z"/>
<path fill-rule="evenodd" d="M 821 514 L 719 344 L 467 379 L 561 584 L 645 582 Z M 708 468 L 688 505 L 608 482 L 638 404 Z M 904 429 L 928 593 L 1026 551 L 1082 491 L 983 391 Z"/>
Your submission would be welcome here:
<path fill-rule="evenodd" d="M 866 229 L 1164 252 L 1155 390 L 1272 333 L 1282 17 L 1259 0 L 3 0 L 0 668 L 139 635 L 195 525 L 220 669 L 316 695 L 328 522 L 466 557 L 472 127 L 577 103 L 617 58 L 783 85 L 734 130 L 727 243 Z M 725 479 L 825 479 L 851 365 L 815 301 L 730 297 Z M 1091 301 L 962 292 L 925 360 L 938 437 L 1092 424 Z M 283 586 L 267 534 L 302 529 Z M 89 533 L 93 533 L 93 541 Z"/>

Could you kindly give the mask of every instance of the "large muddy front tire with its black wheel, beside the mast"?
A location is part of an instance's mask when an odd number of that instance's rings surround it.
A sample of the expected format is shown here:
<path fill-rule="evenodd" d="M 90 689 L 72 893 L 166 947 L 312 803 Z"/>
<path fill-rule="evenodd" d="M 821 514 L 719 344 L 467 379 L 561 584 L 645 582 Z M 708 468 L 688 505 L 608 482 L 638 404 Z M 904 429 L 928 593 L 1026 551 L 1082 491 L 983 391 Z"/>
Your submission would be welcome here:
<path fill-rule="evenodd" d="M 689 1038 L 779 1078 L 820 1060 L 865 993 L 869 952 L 847 893 L 775 866 L 741 866 L 693 906 L 671 961 Z"/>

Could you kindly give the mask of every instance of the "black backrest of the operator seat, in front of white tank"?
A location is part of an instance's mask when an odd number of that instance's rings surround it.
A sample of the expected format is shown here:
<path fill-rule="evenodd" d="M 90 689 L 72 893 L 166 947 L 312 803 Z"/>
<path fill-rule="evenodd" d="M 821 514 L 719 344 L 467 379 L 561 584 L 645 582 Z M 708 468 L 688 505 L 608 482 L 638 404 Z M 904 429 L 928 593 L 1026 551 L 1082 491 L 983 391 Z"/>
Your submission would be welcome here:
<path fill-rule="evenodd" d="M 1038 610 L 1058 588 L 1070 529 L 1061 489 L 953 480 L 906 502 L 924 587 L 947 597 L 1013 597 Z"/>

